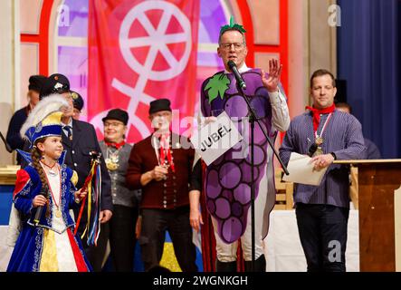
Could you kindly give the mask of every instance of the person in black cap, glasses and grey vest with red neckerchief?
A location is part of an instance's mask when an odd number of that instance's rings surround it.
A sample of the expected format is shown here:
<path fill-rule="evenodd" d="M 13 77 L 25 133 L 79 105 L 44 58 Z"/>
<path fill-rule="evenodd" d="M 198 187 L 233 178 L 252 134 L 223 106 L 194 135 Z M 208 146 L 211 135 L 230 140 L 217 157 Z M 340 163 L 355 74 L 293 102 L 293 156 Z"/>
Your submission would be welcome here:
<path fill-rule="evenodd" d="M 126 174 L 129 153 L 132 146 L 126 143 L 127 111 L 113 109 L 102 119 L 104 140 L 100 149 L 106 160 L 111 178 L 111 196 L 113 199 L 113 218 L 110 219 L 110 256 L 113 270 L 132 272 L 133 256 L 137 239 L 135 225 L 138 219 L 140 190 L 131 190 L 126 186 Z"/>

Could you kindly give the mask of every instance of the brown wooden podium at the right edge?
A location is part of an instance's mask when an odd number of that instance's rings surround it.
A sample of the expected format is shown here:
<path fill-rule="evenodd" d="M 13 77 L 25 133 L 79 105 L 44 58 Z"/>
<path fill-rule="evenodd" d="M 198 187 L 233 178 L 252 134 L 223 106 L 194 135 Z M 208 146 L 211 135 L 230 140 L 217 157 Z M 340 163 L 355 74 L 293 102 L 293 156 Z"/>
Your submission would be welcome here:
<path fill-rule="evenodd" d="M 358 167 L 360 271 L 401 271 L 401 160 L 334 163 Z"/>

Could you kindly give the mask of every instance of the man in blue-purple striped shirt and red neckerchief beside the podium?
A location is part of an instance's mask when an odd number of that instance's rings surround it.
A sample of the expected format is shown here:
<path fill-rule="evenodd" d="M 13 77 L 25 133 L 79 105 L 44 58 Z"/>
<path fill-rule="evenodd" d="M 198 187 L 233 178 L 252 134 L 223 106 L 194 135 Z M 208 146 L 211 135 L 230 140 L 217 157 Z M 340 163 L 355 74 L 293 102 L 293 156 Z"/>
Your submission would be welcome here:
<path fill-rule="evenodd" d="M 333 161 L 366 157 L 361 125 L 351 114 L 335 109 L 336 92 L 332 73 L 318 70 L 312 74 L 313 107 L 291 121 L 280 149 L 284 164 L 291 152 L 297 152 L 310 155 L 314 169 L 328 168 L 319 186 L 294 185 L 298 230 L 309 272 L 346 270 L 348 166 Z"/>

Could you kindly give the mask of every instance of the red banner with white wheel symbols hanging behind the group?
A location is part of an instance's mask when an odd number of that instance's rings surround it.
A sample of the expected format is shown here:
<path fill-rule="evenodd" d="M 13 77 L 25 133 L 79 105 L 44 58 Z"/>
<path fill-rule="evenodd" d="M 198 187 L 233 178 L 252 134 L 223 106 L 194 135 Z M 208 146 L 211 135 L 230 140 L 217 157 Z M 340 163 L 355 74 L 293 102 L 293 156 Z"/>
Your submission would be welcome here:
<path fill-rule="evenodd" d="M 150 134 L 149 102 L 194 115 L 199 0 L 90 0 L 88 120 L 129 112 L 128 142 Z"/>

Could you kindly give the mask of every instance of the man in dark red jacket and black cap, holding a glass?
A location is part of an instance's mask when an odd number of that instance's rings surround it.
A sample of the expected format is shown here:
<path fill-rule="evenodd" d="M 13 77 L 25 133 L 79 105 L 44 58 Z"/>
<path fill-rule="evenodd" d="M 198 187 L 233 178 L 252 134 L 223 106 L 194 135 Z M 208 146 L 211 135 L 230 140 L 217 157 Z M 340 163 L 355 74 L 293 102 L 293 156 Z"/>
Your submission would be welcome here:
<path fill-rule="evenodd" d="M 170 131 L 170 102 L 150 102 L 154 132 L 134 145 L 129 156 L 127 185 L 142 189 L 137 235 L 145 270 L 158 266 L 166 231 L 170 234 L 179 266 L 196 272 L 196 247 L 189 225 L 189 180 L 194 150 L 189 141 Z"/>

